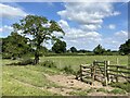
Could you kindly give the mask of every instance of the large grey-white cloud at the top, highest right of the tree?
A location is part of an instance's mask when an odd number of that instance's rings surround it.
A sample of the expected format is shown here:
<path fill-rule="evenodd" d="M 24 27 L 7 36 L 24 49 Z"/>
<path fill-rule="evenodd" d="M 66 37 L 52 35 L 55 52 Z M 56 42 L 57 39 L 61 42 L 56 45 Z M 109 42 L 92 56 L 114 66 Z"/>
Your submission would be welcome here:
<path fill-rule="evenodd" d="M 76 21 L 80 24 L 102 24 L 103 19 L 118 15 L 109 2 L 69 2 L 65 4 L 65 10 L 58 11 L 62 19 Z"/>

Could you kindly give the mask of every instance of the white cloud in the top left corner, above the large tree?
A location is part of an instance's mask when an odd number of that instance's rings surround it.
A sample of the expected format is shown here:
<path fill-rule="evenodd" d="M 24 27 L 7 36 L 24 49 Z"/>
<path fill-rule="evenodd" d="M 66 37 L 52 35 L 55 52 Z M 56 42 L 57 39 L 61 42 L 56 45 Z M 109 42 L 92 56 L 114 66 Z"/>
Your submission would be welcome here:
<path fill-rule="evenodd" d="M 0 3 L 0 15 L 2 17 L 16 17 L 16 16 L 26 16 L 27 13 L 20 8 L 14 8 L 8 4 Z"/>

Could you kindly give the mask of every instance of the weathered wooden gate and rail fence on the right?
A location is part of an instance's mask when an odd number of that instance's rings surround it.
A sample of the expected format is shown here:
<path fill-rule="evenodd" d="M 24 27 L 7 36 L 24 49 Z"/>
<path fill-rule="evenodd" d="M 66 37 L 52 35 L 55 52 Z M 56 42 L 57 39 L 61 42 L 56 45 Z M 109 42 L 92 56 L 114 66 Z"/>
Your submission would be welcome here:
<path fill-rule="evenodd" d="M 110 64 L 109 61 L 93 61 L 92 64 L 81 64 L 79 71 L 80 81 L 92 84 L 94 81 L 107 85 L 112 82 L 121 82 L 119 78 L 130 83 L 130 68 L 120 64 Z"/>

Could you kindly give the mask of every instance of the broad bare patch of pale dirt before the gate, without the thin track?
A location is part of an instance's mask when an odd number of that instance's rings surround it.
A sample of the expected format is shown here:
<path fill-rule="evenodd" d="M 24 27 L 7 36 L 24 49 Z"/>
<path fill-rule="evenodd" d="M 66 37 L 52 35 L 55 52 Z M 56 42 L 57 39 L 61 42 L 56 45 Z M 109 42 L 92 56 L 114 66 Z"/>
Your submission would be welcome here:
<path fill-rule="evenodd" d="M 79 90 L 87 90 L 87 89 L 99 89 L 104 88 L 106 90 L 113 90 L 114 88 L 110 86 L 103 86 L 100 82 L 94 82 L 93 85 L 80 82 L 78 79 L 75 79 L 74 75 L 49 75 L 44 74 L 47 78 L 51 82 L 54 82 L 55 84 L 58 84 L 60 86 L 63 86 L 62 95 L 68 95 L 69 91 L 79 91 Z M 50 89 L 51 91 L 55 91 L 55 89 Z M 58 90 L 56 93 L 60 93 Z M 89 96 L 96 95 L 96 96 L 107 96 L 109 94 L 105 94 L 103 91 L 100 93 L 90 93 Z"/>

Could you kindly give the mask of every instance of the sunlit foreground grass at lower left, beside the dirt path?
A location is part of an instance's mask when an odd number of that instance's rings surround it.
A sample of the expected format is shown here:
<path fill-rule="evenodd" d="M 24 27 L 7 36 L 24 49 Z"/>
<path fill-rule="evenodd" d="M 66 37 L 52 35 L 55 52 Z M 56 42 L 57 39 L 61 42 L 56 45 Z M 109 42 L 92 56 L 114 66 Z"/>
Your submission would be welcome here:
<path fill-rule="evenodd" d="M 47 87 L 60 87 L 50 82 L 44 73 L 57 74 L 57 70 L 49 70 L 37 65 L 6 66 L 2 68 L 2 95 L 3 96 L 48 96 L 55 95 L 46 90 Z M 25 84 L 25 85 L 24 85 Z M 27 85 L 26 85 L 27 84 Z M 30 86 L 29 86 L 29 85 Z M 39 89 L 38 87 L 46 87 Z"/>

